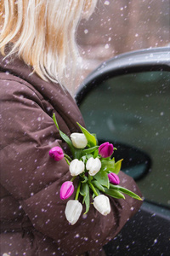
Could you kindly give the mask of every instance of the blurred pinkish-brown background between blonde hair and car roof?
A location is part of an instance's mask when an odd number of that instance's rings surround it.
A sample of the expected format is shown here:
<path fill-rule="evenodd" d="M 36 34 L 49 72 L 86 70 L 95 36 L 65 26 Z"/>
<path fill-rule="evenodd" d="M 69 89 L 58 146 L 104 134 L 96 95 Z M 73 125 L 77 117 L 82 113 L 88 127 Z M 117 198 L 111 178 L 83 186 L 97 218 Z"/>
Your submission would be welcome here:
<path fill-rule="evenodd" d="M 99 0 L 94 15 L 81 21 L 77 43 L 83 60 L 81 81 L 115 55 L 168 45 L 169 0 Z"/>

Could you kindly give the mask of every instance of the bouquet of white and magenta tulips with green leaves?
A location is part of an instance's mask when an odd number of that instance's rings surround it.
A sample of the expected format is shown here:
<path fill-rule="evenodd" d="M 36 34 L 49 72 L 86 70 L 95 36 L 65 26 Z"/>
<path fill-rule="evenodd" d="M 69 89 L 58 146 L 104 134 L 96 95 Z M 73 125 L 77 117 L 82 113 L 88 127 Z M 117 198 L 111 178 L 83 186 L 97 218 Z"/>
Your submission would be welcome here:
<path fill-rule="evenodd" d="M 59 130 L 59 125 L 53 115 L 54 123 Z M 71 172 L 71 180 L 65 181 L 60 188 L 60 199 L 69 198 L 74 192 L 73 181 L 78 179 L 77 192 L 75 200 L 67 201 L 65 207 L 65 217 L 71 224 L 75 224 L 82 213 L 82 204 L 86 205 L 86 212 L 90 207 L 90 193 L 94 200 L 94 207 L 103 215 L 111 212 L 109 197 L 125 199 L 123 194 L 142 200 L 139 195 L 119 186 L 120 180 L 117 176 L 121 169 L 122 160 L 115 161 L 111 158 L 116 148 L 111 143 L 98 145 L 94 134 L 88 132 L 82 125 L 79 125 L 82 133 L 72 133 L 67 137 L 65 133 L 59 130 L 59 135 L 68 144 L 71 149 L 72 158 L 64 154 L 62 148 L 54 147 L 49 151 L 50 157 L 59 161 L 65 158 Z M 123 194 L 122 194 L 123 193 Z M 82 203 L 79 196 L 82 195 Z"/>

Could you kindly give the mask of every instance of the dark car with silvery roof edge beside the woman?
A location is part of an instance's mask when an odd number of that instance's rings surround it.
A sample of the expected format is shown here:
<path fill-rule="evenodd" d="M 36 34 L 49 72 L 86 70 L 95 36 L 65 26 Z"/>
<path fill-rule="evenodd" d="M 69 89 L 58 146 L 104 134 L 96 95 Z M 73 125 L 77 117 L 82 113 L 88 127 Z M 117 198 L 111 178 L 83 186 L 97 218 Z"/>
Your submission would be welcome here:
<path fill-rule="evenodd" d="M 117 55 L 90 73 L 77 105 L 99 143 L 113 143 L 122 171 L 144 195 L 106 255 L 170 255 L 170 48 Z"/>

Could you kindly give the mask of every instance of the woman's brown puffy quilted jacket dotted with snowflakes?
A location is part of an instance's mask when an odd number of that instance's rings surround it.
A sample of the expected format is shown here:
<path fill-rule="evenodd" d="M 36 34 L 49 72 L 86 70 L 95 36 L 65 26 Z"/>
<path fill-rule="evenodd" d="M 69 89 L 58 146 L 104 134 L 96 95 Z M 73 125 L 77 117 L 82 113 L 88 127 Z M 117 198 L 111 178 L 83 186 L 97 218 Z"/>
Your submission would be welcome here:
<path fill-rule="evenodd" d="M 52 115 L 68 136 L 84 125 L 76 103 L 59 84 L 42 81 L 22 61 L 0 56 L 1 109 L 1 255 L 99 255 L 99 248 L 139 210 L 140 201 L 111 198 L 106 217 L 90 207 L 77 224 L 65 219 L 59 188 L 70 180 L 65 160 L 48 156 L 54 146 L 68 153 Z M 95 132 L 95 131 L 94 131 Z M 131 177 L 121 183 L 140 195 Z M 73 199 L 71 195 L 70 199 Z"/>

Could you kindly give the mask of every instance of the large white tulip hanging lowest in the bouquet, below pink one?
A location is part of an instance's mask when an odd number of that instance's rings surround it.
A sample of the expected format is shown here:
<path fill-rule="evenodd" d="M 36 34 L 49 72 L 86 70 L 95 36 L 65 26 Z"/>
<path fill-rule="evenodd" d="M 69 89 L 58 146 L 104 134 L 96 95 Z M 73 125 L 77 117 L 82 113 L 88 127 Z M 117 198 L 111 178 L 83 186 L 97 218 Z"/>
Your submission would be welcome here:
<path fill-rule="evenodd" d="M 82 213 L 82 204 L 77 200 L 67 201 L 65 207 L 65 217 L 71 225 L 77 223 L 78 218 Z"/>

